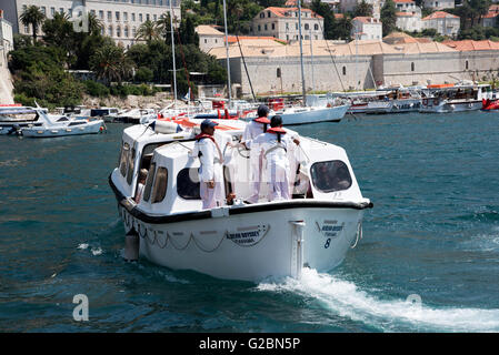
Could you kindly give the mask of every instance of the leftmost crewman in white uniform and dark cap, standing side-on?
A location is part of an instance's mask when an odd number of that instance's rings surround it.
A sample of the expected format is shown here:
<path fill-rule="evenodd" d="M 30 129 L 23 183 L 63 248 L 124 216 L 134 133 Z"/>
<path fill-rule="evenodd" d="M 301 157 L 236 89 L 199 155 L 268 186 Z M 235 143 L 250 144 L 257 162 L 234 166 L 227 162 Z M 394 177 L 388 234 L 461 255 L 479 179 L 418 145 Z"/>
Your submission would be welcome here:
<path fill-rule="evenodd" d="M 224 201 L 223 158 L 213 136 L 216 125 L 218 123 L 208 119 L 201 122 L 201 133 L 196 136 L 194 149 L 191 152 L 191 156 L 198 156 L 201 162 L 199 192 L 203 210 L 221 206 Z"/>

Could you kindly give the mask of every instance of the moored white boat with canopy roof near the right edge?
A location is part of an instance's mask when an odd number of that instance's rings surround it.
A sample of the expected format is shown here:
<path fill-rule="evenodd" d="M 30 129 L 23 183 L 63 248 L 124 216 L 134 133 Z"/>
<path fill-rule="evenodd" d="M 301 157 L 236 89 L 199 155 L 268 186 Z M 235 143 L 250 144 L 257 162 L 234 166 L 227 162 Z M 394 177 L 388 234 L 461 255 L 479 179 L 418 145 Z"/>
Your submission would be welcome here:
<path fill-rule="evenodd" d="M 436 84 L 423 90 L 420 112 L 450 113 L 481 110 L 483 100 L 496 99 L 490 84 Z"/>

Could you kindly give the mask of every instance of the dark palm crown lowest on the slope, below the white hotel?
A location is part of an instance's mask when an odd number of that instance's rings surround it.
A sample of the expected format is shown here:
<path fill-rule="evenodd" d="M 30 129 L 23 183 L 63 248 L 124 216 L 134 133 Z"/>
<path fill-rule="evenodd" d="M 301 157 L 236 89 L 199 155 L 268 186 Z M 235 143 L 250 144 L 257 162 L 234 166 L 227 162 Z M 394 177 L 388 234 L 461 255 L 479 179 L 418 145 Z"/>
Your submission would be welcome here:
<path fill-rule="evenodd" d="M 90 58 L 90 69 L 99 79 L 108 83 L 118 81 L 121 84 L 121 81 L 130 75 L 132 63 L 121 47 L 104 45 Z"/>

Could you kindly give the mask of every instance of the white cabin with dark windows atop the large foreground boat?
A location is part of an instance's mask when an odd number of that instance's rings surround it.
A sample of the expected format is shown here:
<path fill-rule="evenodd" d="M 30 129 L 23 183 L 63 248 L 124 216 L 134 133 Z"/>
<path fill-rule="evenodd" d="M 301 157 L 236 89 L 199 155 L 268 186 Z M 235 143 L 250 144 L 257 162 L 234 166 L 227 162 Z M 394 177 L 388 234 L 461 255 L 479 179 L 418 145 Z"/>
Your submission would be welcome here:
<path fill-rule="evenodd" d="M 200 123 L 200 122 L 199 122 Z M 232 126 L 221 123 L 216 140 L 223 154 L 224 193 L 236 194 L 243 201 L 250 195 L 249 152 L 242 148 L 226 146 L 237 143 L 243 132 L 243 122 L 231 121 Z M 241 125 L 242 123 L 242 125 Z M 292 131 L 289 131 L 290 133 Z M 112 179 L 126 196 L 137 192 L 140 169 L 148 170 L 146 186 L 138 206 L 149 214 L 171 214 L 199 211 L 202 202 L 199 193 L 199 159 L 189 155 L 194 146 L 193 136 L 199 128 L 178 133 L 158 134 L 144 125 L 123 131 L 119 168 Z M 289 181 L 293 199 L 321 201 L 362 199 L 357 180 L 342 148 L 300 138 L 300 146 L 288 150 L 290 158 Z M 292 156 L 297 159 L 292 159 Z M 267 184 L 262 182 L 260 203 L 267 201 Z"/>

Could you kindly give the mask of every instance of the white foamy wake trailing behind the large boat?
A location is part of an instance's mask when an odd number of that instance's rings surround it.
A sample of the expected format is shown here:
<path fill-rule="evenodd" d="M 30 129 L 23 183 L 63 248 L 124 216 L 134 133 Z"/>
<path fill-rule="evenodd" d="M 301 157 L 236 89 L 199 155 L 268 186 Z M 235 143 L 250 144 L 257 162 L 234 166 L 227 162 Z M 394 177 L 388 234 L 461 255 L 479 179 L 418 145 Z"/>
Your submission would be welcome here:
<path fill-rule="evenodd" d="M 499 332 L 499 310 L 436 308 L 418 295 L 379 300 L 352 282 L 310 268 L 302 270 L 301 280 L 261 283 L 258 290 L 316 298 L 332 314 L 382 332 Z"/>

